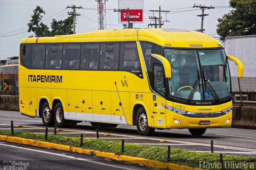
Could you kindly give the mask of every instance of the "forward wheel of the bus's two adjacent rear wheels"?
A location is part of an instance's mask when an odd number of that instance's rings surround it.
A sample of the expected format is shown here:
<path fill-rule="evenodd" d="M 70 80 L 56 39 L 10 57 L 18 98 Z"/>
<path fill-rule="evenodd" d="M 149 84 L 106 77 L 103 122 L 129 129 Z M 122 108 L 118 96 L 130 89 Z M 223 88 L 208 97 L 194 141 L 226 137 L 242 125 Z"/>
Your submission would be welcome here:
<path fill-rule="evenodd" d="M 64 118 L 64 111 L 62 104 L 58 102 L 54 107 L 54 122 L 57 127 L 76 127 L 76 121 L 66 120 Z"/>

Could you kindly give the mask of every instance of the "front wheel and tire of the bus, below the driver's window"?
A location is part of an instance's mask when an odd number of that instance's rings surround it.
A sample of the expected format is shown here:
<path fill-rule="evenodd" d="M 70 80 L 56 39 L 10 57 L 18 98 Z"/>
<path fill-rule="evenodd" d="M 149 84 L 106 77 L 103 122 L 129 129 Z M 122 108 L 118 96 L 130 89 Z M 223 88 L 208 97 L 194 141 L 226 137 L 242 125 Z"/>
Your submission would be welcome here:
<path fill-rule="evenodd" d="M 148 126 L 148 118 L 144 107 L 141 107 L 137 112 L 136 127 L 138 133 L 143 136 L 151 136 L 155 132 L 155 128 Z"/>

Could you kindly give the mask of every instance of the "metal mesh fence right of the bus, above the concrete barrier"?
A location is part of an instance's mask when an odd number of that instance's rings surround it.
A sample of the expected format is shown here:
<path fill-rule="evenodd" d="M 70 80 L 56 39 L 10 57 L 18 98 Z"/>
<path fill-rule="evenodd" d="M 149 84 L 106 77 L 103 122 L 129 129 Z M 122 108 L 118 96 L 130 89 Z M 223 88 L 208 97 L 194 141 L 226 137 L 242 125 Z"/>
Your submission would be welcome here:
<path fill-rule="evenodd" d="M 233 105 L 256 106 L 256 77 L 231 77 Z"/>

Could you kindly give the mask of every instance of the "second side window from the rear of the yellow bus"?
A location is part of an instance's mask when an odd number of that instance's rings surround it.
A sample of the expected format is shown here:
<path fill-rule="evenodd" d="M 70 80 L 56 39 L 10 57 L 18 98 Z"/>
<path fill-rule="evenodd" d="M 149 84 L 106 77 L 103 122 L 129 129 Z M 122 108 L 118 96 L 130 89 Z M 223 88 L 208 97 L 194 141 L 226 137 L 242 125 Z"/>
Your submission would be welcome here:
<path fill-rule="evenodd" d="M 34 44 L 33 52 L 32 52 L 31 68 L 36 68 L 36 69 L 44 68 L 44 58 L 45 58 L 45 45 Z"/>

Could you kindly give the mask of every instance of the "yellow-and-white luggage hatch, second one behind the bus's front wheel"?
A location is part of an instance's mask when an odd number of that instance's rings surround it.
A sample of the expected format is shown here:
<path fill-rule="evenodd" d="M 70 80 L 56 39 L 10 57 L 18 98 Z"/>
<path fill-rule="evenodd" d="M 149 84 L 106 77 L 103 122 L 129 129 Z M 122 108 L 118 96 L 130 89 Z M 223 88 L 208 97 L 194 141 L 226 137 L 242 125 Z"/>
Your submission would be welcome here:
<path fill-rule="evenodd" d="M 93 121 L 111 123 L 110 91 L 92 91 Z"/>

